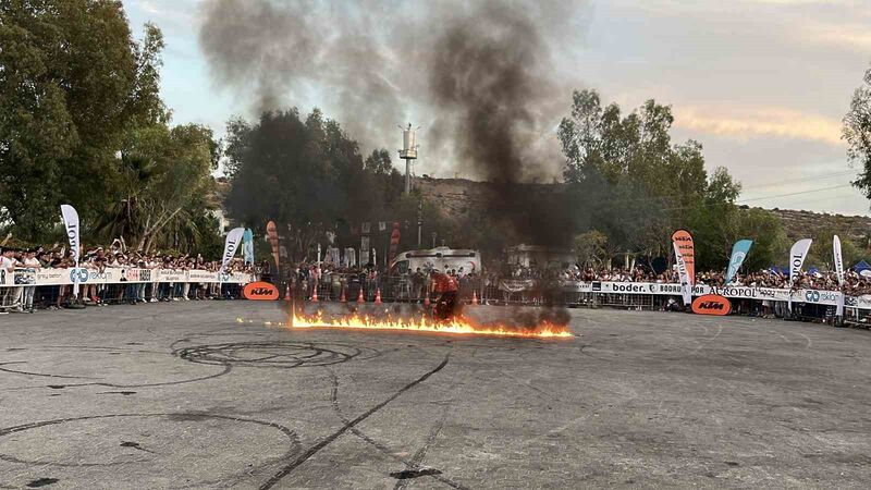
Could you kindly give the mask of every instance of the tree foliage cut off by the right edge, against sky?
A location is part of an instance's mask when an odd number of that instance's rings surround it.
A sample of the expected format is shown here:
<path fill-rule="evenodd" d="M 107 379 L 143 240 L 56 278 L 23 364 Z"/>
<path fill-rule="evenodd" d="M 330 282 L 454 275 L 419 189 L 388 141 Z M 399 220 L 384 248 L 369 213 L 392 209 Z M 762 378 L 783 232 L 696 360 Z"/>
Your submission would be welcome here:
<path fill-rule="evenodd" d="M 844 139 L 847 157 L 862 169 L 854 185 L 871 199 L 871 68 L 864 72 L 863 83 L 854 93 L 850 110 L 844 117 Z"/>

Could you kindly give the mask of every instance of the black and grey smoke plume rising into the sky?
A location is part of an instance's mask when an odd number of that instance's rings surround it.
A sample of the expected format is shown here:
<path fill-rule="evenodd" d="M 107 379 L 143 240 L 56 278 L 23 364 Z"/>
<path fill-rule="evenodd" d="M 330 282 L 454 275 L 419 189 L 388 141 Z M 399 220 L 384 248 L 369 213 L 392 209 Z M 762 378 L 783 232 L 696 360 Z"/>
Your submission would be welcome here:
<path fill-rule="evenodd" d="M 555 125 L 577 79 L 553 69 L 587 0 L 213 0 L 199 42 L 216 82 L 256 111 L 326 101 L 364 146 L 416 120 L 428 169 L 495 183 L 483 210 L 514 243 L 567 246 Z M 290 102 L 290 103 L 289 103 Z M 444 161 L 433 161 L 441 158 Z M 431 172 L 431 171 L 430 171 Z"/>

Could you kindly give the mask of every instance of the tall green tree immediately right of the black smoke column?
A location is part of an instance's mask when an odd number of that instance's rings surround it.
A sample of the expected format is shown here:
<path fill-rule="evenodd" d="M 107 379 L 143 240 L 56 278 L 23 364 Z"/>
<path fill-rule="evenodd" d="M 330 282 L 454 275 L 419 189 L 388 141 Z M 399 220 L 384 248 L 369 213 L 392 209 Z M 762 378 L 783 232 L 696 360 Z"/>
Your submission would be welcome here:
<path fill-rule="evenodd" d="M 701 144 L 673 144 L 673 123 L 671 107 L 653 100 L 624 115 L 596 90 L 574 93 L 557 136 L 577 232 L 604 233 L 614 250 L 668 255 L 672 232 L 694 211 L 710 218 L 734 203 L 739 187 L 725 170 L 709 179 Z"/>

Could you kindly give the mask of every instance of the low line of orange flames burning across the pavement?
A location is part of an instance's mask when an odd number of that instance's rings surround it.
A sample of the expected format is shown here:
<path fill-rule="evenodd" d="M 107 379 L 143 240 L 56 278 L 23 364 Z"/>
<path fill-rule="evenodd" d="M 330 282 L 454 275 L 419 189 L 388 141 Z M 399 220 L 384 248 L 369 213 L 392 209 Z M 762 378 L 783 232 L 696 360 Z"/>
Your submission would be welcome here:
<path fill-rule="evenodd" d="M 293 329 L 358 329 L 358 330 L 405 330 L 414 332 L 465 333 L 477 335 L 525 336 L 525 338 L 568 338 L 574 336 L 567 326 L 550 322 L 535 327 L 512 327 L 507 324 L 480 324 L 467 318 L 457 317 L 451 321 L 434 321 L 426 316 L 419 318 L 394 318 L 389 313 L 383 318 L 369 315 L 324 316 L 294 314 L 290 323 L 267 322 L 268 326 Z"/>

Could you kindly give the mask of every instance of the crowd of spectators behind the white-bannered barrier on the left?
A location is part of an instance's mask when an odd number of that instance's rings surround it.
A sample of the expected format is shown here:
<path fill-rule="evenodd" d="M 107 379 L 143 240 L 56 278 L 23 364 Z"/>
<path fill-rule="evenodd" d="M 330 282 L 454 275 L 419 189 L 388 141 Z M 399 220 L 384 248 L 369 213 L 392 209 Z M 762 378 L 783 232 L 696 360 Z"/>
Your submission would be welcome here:
<path fill-rule="evenodd" d="M 65 246 L 4 248 L 0 258 L 0 273 L 13 273 L 15 269 L 66 269 L 75 267 L 73 253 Z M 217 272 L 221 262 L 205 260 L 201 255 L 146 253 L 130 250 L 123 241 L 115 240 L 109 246 L 85 248 L 78 267 L 89 272 L 102 273 L 107 269 L 148 269 L 148 270 L 205 270 Z M 262 271 L 263 265 L 245 264 L 234 258 L 225 272 Z M 199 301 L 212 298 L 234 298 L 237 287 L 218 283 L 131 283 L 131 284 L 82 284 L 77 296 L 73 296 L 72 285 L 32 286 L 21 285 L 0 289 L 0 314 L 13 311 L 33 313 L 36 305 L 58 309 L 75 305 L 105 306 L 111 303 L 157 303 L 171 301 Z"/>

